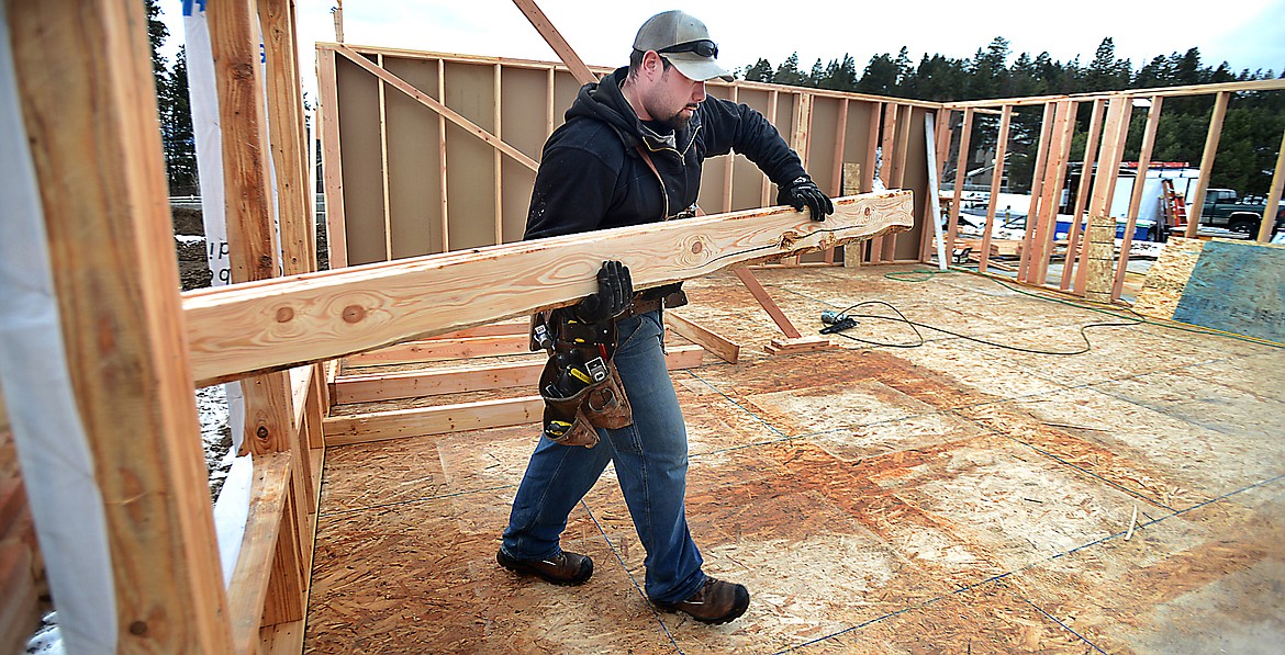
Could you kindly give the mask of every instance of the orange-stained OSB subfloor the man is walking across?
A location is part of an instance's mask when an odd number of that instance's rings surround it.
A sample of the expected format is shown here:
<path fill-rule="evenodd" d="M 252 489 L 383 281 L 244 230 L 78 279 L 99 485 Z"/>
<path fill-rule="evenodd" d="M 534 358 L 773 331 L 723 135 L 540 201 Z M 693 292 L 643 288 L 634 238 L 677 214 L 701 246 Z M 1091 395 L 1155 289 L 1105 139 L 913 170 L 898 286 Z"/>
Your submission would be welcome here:
<path fill-rule="evenodd" d="M 869 299 L 1036 349 L 1114 320 L 894 270 L 758 277 L 810 331 Z M 1064 357 L 930 330 L 767 357 L 774 328 L 735 277 L 687 289 L 685 316 L 745 344 L 736 366 L 673 375 L 691 530 L 709 573 L 750 588 L 745 616 L 651 609 L 610 469 L 564 534 L 594 557 L 587 584 L 497 568 L 536 439 L 519 426 L 329 451 L 307 651 L 1279 652 L 1285 351 L 1136 325 Z"/>

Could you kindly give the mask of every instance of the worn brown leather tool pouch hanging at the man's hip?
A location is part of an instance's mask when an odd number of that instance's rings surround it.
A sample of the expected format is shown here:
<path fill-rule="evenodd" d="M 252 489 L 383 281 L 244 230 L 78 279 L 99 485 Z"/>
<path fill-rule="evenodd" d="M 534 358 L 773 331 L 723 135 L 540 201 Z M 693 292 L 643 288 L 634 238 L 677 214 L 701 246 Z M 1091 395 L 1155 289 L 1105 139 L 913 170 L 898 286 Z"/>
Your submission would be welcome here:
<path fill-rule="evenodd" d="M 545 435 L 563 446 L 594 447 L 594 428 L 618 429 L 634 423 L 634 411 L 625 396 L 625 384 L 614 362 L 605 362 L 605 375 L 572 396 L 550 393 L 563 375 L 555 357 L 545 363 L 540 375 L 540 396 L 545 401 Z"/>

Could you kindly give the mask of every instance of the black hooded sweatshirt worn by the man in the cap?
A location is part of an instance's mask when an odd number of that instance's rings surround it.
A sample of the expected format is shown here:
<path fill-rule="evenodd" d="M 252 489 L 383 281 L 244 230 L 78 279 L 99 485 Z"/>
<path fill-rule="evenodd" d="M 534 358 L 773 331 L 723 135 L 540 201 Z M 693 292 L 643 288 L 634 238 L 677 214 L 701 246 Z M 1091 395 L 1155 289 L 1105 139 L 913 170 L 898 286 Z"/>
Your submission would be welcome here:
<path fill-rule="evenodd" d="M 621 94 L 627 73 L 628 67 L 619 68 L 582 86 L 567 122 L 549 136 L 526 239 L 663 221 L 696 202 L 702 162 L 731 150 L 777 186 L 807 176 L 776 127 L 744 104 L 705 98 L 677 132 L 644 125 Z M 637 144 L 650 153 L 663 194 Z"/>

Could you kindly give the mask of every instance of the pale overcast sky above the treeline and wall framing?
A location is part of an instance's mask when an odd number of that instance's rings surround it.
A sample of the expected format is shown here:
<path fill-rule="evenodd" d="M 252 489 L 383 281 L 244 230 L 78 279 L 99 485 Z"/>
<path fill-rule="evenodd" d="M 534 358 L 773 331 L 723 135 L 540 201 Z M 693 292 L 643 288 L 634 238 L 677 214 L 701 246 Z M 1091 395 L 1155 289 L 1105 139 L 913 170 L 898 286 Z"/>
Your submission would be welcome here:
<path fill-rule="evenodd" d="M 162 0 L 170 39 L 164 54 L 182 42 L 181 0 Z M 1155 55 L 1199 48 L 1201 63 L 1227 62 L 1244 68 L 1285 69 L 1285 0 L 1168 0 L 1139 3 L 1074 0 L 853 0 L 713 1 L 686 0 L 591 3 L 537 0 L 549 19 L 589 64 L 623 66 L 634 35 L 648 17 L 682 9 L 704 21 L 720 45 L 727 69 L 766 58 L 774 67 L 798 53 L 807 71 L 816 59 L 829 63 L 844 53 L 864 69 L 883 53 L 906 46 L 912 62 L 926 54 L 971 58 L 992 39 L 1009 40 L 1011 59 L 1049 51 L 1054 59 L 1094 59 L 1103 37 L 1133 69 Z M 311 44 L 334 40 L 333 0 L 298 0 L 299 54 L 312 71 Z M 511 0 L 348 0 L 343 5 L 344 40 L 441 53 L 556 59 Z M 307 78 L 314 76 L 308 74 Z M 306 87 L 315 89 L 315 81 Z M 310 92 L 315 95 L 315 91 Z"/>

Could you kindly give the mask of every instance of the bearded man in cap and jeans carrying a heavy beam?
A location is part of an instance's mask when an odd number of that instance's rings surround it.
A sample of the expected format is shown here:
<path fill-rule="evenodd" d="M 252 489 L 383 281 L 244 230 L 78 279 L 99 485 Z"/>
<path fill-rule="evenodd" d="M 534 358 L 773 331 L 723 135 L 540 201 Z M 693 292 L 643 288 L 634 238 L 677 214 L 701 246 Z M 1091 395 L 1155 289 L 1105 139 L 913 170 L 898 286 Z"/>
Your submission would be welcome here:
<path fill-rule="evenodd" d="M 696 213 L 700 167 L 731 150 L 779 188 L 777 202 L 822 221 L 834 212 L 799 157 L 744 104 L 705 96 L 716 63 L 704 23 L 664 12 L 637 32 L 630 66 L 585 85 L 567 123 L 545 144 L 527 239 L 642 225 Z M 684 494 L 687 435 L 662 349 L 662 308 L 685 302 L 677 285 L 634 293 L 628 268 L 604 262 L 599 293 L 537 317 L 550 351 L 541 379 L 540 439 L 513 502 L 497 560 L 555 584 L 582 584 L 592 561 L 563 551 L 567 518 L 608 462 L 646 548 L 646 595 L 658 607 L 726 623 L 749 605 L 741 584 L 702 570 Z M 617 393 L 623 390 L 623 393 Z"/>

